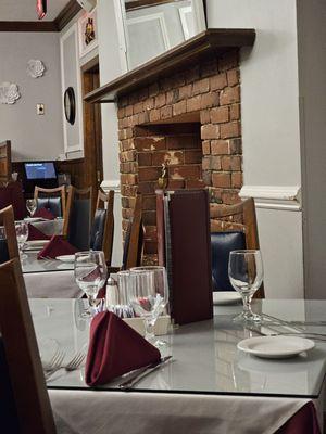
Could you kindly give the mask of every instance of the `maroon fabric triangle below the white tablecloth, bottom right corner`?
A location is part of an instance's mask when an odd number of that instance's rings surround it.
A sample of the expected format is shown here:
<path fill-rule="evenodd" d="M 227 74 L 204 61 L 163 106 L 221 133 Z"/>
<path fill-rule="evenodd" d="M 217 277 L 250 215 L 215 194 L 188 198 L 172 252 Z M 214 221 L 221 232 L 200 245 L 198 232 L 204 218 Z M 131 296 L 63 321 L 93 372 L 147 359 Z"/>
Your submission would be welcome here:
<path fill-rule="evenodd" d="M 321 434 L 314 404 L 306 403 L 275 434 Z"/>

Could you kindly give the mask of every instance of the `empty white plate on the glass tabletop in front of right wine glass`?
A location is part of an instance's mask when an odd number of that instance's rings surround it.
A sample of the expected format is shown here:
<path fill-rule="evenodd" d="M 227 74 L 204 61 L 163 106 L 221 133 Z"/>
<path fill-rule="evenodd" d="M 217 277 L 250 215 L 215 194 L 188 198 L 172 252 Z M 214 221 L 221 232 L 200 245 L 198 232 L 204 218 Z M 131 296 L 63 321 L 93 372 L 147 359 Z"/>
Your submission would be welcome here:
<path fill-rule="evenodd" d="M 315 343 L 299 336 L 256 336 L 240 341 L 238 349 L 267 359 L 283 359 L 308 352 Z"/>

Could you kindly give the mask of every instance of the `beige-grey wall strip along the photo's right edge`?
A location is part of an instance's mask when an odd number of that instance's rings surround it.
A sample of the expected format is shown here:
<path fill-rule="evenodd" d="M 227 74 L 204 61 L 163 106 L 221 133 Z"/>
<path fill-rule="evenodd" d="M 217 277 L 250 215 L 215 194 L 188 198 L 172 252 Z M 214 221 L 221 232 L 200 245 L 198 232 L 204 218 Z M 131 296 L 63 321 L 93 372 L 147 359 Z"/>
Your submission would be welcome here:
<path fill-rule="evenodd" d="M 305 296 L 326 297 L 326 3 L 298 0 Z"/>

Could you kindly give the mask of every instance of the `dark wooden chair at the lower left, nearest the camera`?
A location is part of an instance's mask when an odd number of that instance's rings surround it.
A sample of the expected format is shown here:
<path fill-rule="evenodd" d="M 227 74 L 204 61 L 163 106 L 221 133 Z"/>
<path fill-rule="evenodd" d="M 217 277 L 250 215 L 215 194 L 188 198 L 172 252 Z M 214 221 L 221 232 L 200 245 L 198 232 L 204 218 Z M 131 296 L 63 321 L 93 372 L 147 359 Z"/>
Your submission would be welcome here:
<path fill-rule="evenodd" d="M 0 265 L 1 431 L 54 434 L 24 279 L 18 259 Z M 3 407 L 4 406 L 4 407 Z"/>

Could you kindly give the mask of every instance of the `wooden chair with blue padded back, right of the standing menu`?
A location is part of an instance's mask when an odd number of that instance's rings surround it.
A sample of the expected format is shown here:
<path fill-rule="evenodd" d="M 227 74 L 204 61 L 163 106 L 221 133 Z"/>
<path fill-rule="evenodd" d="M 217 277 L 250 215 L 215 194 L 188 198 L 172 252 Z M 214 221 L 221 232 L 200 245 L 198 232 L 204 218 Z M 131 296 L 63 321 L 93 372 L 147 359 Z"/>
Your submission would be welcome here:
<path fill-rule="evenodd" d="M 228 279 L 228 257 L 235 250 L 259 250 L 255 206 L 252 197 L 236 205 L 210 205 L 213 291 L 234 291 Z M 264 297 L 263 284 L 254 294 Z"/>

